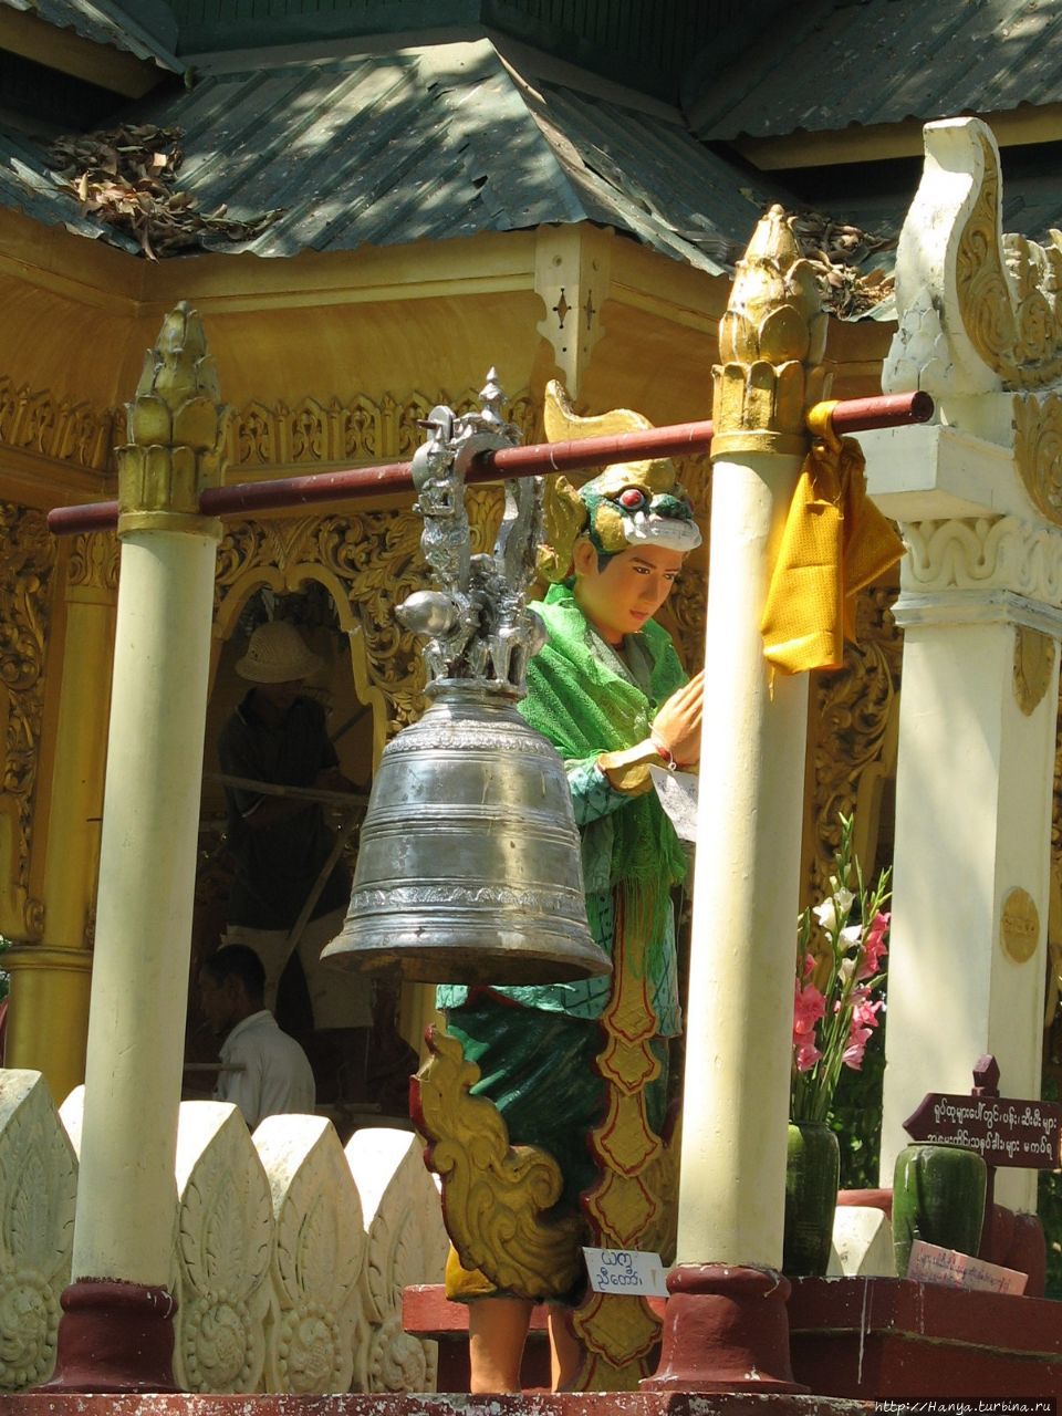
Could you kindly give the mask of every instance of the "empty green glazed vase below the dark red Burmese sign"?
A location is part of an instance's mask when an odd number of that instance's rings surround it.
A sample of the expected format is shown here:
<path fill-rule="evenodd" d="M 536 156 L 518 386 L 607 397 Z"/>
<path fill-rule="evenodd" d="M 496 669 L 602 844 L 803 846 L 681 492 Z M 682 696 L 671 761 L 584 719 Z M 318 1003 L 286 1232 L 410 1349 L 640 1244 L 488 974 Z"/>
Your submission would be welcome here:
<path fill-rule="evenodd" d="M 915 1239 L 977 1253 L 987 1174 L 977 1151 L 961 1146 L 919 1144 L 899 1153 L 892 1177 L 892 1247 L 901 1279 Z"/>

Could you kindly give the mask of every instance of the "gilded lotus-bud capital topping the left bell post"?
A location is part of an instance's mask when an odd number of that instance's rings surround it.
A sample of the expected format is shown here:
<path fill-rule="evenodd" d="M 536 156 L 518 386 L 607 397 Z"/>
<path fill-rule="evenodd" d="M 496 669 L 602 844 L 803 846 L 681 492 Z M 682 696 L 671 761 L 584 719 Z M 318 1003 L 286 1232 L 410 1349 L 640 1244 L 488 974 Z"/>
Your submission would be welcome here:
<path fill-rule="evenodd" d="M 221 481 L 231 409 L 219 402 L 202 321 L 187 302 L 163 320 L 126 411 L 130 440 L 118 449 L 119 537 L 152 527 L 202 535 L 217 527 L 200 515 L 200 493 Z"/>

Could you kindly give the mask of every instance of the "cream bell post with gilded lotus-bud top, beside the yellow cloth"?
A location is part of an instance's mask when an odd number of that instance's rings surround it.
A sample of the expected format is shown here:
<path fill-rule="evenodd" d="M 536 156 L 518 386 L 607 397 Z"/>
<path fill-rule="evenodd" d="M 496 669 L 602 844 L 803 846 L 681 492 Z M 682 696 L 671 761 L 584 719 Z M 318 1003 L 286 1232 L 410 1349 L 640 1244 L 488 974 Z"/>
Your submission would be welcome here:
<path fill-rule="evenodd" d="M 824 396 L 824 344 L 810 269 L 772 207 L 738 263 L 712 371 L 677 1281 L 683 1266 L 782 1267 L 807 675 L 772 683 L 760 622 L 811 443 L 807 411 Z M 779 1337 L 783 1314 L 775 1327 Z M 673 1328 L 663 1368 L 688 1376 L 697 1359 L 671 1352 L 683 1345 Z"/>

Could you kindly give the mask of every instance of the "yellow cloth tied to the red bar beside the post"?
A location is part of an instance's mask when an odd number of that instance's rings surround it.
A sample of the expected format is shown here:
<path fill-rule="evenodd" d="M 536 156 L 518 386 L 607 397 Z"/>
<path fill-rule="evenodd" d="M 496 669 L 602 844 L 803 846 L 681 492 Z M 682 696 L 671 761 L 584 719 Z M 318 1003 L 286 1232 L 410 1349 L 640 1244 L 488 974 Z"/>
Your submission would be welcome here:
<path fill-rule="evenodd" d="M 809 416 L 816 435 L 782 532 L 760 632 L 783 674 L 840 668 L 855 639 L 855 595 L 903 555 L 892 523 L 867 496 L 862 449 L 830 425 L 833 404 Z"/>

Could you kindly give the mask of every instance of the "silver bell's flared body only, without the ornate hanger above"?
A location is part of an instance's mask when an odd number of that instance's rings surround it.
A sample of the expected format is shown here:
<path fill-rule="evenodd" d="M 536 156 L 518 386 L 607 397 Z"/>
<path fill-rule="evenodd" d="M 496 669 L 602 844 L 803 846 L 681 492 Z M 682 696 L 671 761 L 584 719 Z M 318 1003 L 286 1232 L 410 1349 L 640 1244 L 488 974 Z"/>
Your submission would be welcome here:
<path fill-rule="evenodd" d="M 511 702 L 450 687 L 384 750 L 333 964 L 433 983 L 609 971 L 564 765 Z"/>

